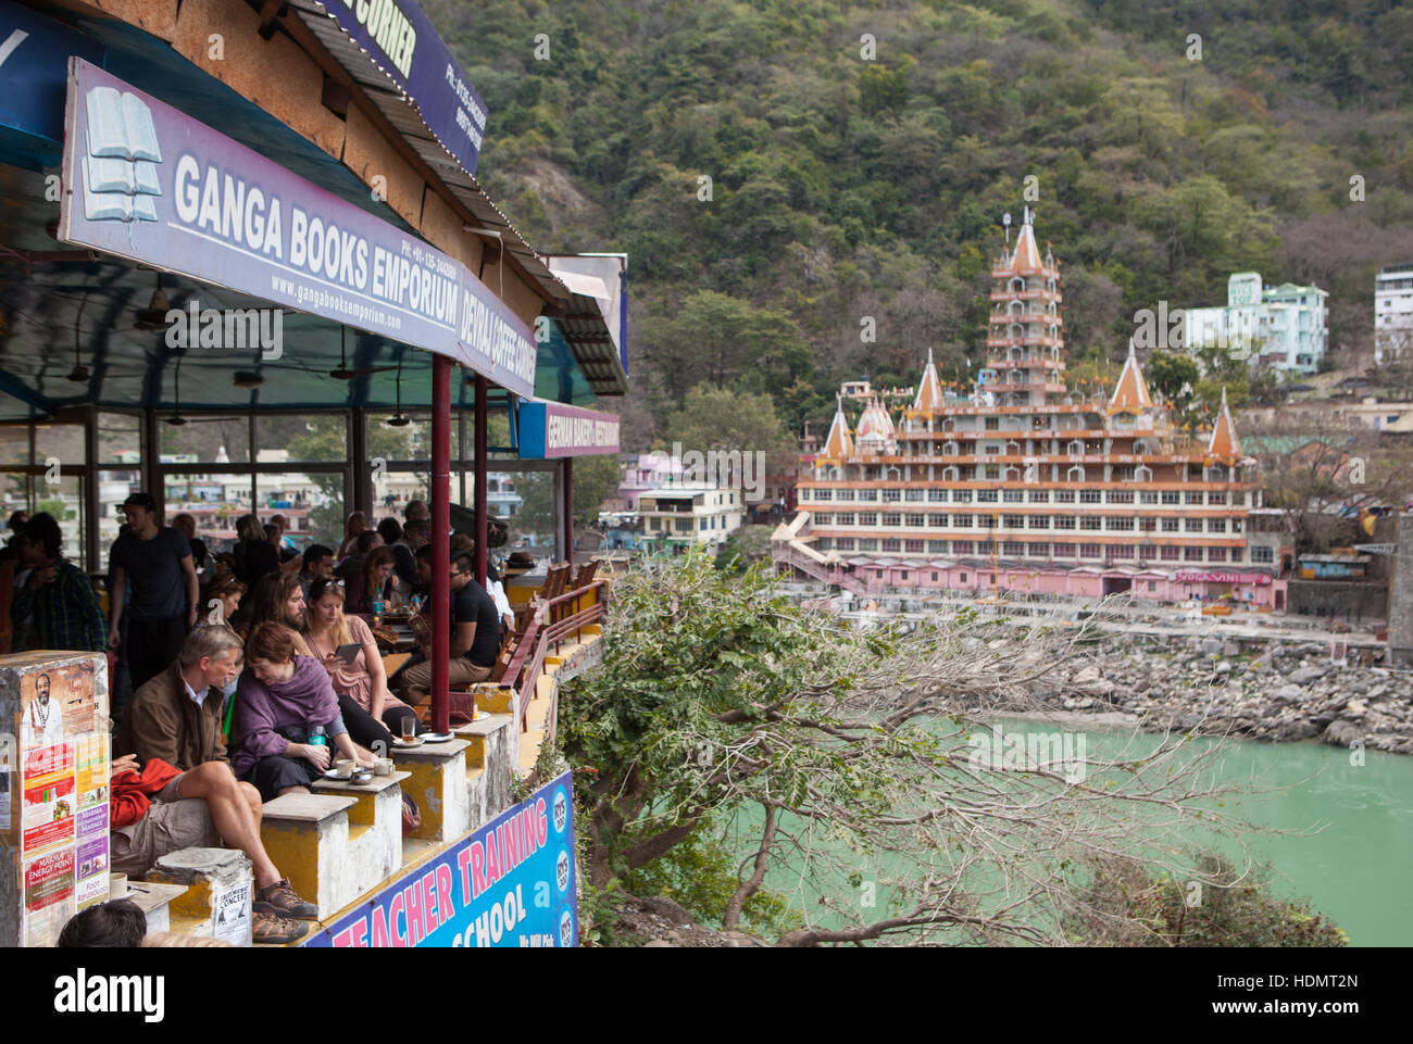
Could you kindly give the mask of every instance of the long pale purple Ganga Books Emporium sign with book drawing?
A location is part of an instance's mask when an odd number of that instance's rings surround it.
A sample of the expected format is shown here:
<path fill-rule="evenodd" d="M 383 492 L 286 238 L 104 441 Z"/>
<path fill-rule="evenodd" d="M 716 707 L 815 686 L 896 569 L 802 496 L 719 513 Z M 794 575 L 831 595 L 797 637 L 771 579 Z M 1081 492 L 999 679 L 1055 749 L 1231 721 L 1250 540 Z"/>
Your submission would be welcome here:
<path fill-rule="evenodd" d="M 520 396 L 537 348 L 471 270 L 82 58 L 59 239 L 448 356 Z"/>

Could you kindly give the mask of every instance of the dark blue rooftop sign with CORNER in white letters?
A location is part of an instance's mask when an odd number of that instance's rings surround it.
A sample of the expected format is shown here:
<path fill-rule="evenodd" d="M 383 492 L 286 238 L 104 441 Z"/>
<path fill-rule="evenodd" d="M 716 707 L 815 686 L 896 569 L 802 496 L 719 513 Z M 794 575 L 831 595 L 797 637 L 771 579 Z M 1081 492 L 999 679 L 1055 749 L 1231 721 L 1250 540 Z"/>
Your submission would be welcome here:
<path fill-rule="evenodd" d="M 468 174 L 476 172 L 486 133 L 486 103 L 466 81 L 414 0 L 322 0 L 422 114 L 422 123 Z"/>

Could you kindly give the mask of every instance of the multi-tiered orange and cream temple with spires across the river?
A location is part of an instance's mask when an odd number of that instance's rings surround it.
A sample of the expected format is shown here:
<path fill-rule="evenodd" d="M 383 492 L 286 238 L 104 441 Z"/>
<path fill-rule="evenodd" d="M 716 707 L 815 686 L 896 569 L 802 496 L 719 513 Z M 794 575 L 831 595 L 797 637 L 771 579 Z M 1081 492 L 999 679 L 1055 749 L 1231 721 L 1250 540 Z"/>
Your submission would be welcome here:
<path fill-rule="evenodd" d="M 1283 609 L 1275 540 L 1231 413 L 1178 429 L 1129 356 L 1112 394 L 1065 383 L 1060 266 L 1026 212 L 992 270 L 986 366 L 945 386 L 928 352 L 911 407 L 842 397 L 798 483 L 776 559 L 856 591 L 983 589 L 1184 600 L 1231 595 Z"/>

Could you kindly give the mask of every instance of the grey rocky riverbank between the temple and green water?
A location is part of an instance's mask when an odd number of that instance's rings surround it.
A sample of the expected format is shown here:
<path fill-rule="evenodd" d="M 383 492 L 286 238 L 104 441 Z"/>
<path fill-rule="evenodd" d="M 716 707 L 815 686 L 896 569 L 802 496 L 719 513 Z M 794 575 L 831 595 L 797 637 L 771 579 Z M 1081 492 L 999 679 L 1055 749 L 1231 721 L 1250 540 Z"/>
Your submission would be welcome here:
<path fill-rule="evenodd" d="M 1413 754 L 1413 672 L 1330 661 L 1327 646 L 1217 639 L 1105 640 L 1039 695 L 1046 708 L 1113 715 L 1143 729 L 1317 739 Z M 1016 708 L 996 709 L 1020 709 Z M 1112 719 L 1111 719 L 1112 720 Z"/>

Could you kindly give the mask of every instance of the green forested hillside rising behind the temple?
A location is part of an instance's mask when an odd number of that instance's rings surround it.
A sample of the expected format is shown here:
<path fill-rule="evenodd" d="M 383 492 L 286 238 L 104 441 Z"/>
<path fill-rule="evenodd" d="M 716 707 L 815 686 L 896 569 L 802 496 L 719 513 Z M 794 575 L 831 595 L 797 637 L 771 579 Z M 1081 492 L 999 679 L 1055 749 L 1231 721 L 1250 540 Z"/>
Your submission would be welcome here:
<path fill-rule="evenodd" d="M 424 7 L 521 233 L 632 256 L 633 448 L 702 383 L 798 429 L 928 348 L 965 373 L 1031 175 L 1081 370 L 1239 268 L 1328 288 L 1331 346 L 1368 352 L 1373 271 L 1413 260 L 1413 10 L 1389 0 Z"/>

